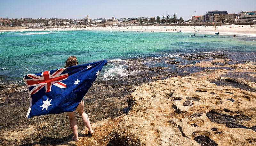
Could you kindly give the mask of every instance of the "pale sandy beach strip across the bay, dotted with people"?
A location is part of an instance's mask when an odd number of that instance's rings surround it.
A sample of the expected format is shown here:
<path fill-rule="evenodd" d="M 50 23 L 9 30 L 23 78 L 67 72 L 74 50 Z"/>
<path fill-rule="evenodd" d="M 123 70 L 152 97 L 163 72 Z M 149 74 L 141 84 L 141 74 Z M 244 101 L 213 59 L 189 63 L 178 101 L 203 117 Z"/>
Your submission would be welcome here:
<path fill-rule="evenodd" d="M 10 27 L 9 27 L 10 28 Z M 16 27 L 8 29 L 8 27 L 0 28 L 2 31 L 77 31 L 77 30 L 95 30 L 95 31 L 140 31 L 140 32 L 173 32 L 179 31 L 191 34 L 211 34 L 220 32 L 220 35 L 234 35 L 236 36 L 251 36 L 256 37 L 256 24 L 254 25 L 222 25 L 222 26 L 106 26 L 106 27 L 75 27 L 75 26 L 62 26 L 52 28 L 40 29 L 25 29 L 24 27 Z M 18 29 L 20 28 L 20 29 Z"/>

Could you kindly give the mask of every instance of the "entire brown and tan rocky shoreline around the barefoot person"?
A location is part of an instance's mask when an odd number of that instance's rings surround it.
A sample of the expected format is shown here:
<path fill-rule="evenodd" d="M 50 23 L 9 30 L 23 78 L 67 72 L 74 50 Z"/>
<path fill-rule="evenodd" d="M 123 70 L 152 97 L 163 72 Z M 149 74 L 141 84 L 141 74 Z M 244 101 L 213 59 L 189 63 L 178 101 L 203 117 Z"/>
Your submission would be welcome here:
<path fill-rule="evenodd" d="M 96 82 L 85 96 L 95 133 L 89 136 L 78 118 L 79 142 L 71 139 L 65 113 L 27 119 L 26 87 L 1 85 L 0 144 L 255 145 L 255 62 L 232 63 L 225 55 L 184 59 L 202 61 L 181 65 L 169 58 L 173 72 L 138 59 L 147 70 L 140 76 Z"/>

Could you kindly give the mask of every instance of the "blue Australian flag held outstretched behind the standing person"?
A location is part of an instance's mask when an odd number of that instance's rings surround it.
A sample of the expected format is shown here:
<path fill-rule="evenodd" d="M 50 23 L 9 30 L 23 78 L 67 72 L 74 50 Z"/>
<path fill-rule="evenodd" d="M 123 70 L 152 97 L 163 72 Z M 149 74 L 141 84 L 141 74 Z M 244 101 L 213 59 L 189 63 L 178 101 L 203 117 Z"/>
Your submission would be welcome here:
<path fill-rule="evenodd" d="M 26 75 L 30 97 L 26 117 L 75 111 L 107 63 L 102 60 Z"/>

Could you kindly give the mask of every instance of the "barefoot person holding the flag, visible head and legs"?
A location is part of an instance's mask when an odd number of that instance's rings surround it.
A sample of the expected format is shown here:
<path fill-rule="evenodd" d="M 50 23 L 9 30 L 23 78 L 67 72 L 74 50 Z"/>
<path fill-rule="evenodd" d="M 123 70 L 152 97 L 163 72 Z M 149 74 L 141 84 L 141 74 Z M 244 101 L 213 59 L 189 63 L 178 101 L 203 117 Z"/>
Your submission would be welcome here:
<path fill-rule="evenodd" d="M 70 56 L 70 57 L 68 57 L 68 59 L 66 61 L 65 67 L 76 66 L 77 64 L 78 64 L 78 62 L 77 62 L 76 56 Z M 91 128 L 91 123 L 90 123 L 89 117 L 84 112 L 84 99 L 82 99 L 82 101 L 78 104 L 76 111 L 81 116 L 82 121 L 83 121 L 84 125 L 88 128 L 90 134 L 93 134 L 94 132 Z M 78 138 L 75 111 L 67 112 L 67 114 L 68 114 L 68 118 L 69 118 L 70 128 L 74 134 L 72 139 L 77 142 L 79 140 L 79 138 Z"/>

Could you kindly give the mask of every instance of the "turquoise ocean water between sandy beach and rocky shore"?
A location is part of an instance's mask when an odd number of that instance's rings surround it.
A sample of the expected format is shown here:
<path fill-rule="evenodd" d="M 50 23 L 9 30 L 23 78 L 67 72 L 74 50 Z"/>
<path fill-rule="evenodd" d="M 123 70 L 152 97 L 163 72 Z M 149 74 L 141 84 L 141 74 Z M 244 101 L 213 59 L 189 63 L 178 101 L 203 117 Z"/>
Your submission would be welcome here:
<path fill-rule="evenodd" d="M 107 59 L 109 63 L 100 80 L 143 71 L 131 63 L 141 59 L 148 67 L 173 69 L 174 65 L 166 63 L 168 57 L 181 65 L 199 62 L 185 60 L 185 55 L 205 54 L 226 54 L 233 63 L 256 62 L 255 37 L 189 35 L 136 31 L 0 32 L 0 83 L 24 84 L 26 74 L 62 68 L 69 56 L 76 56 L 79 64 Z"/>

